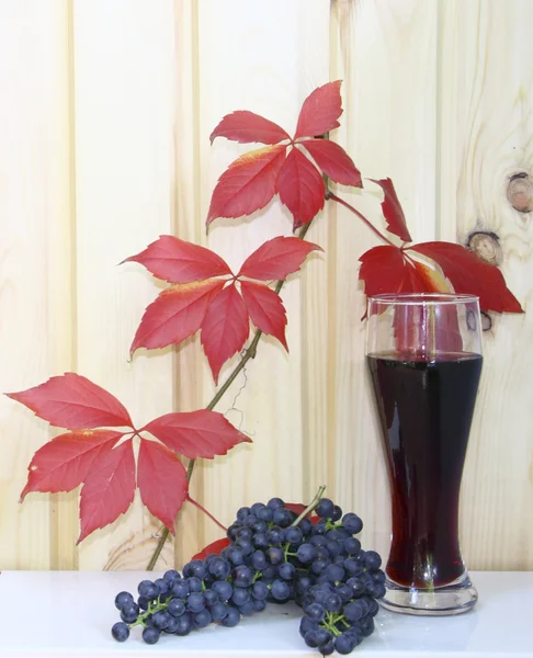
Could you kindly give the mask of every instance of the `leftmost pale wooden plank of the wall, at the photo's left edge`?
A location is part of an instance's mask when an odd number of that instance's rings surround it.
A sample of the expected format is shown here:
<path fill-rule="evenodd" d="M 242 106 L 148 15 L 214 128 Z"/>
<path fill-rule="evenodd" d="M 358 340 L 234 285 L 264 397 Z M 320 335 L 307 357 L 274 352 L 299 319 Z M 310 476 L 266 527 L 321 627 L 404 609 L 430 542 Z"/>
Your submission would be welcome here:
<path fill-rule="evenodd" d="M 73 364 L 68 3 L 0 5 L 1 384 L 21 390 Z M 32 454 L 53 435 L 0 397 L 0 568 L 72 568 L 72 496 L 18 506 Z M 70 503 L 68 502 L 70 500 Z"/>

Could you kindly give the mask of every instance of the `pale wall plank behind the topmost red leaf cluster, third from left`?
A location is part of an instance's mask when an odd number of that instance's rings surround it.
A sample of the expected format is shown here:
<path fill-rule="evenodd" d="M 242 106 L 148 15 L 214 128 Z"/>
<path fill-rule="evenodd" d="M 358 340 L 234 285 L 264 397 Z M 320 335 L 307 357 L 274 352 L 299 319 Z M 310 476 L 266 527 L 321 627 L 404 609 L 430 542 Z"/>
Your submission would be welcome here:
<path fill-rule="evenodd" d="M 219 139 L 207 152 L 211 132 L 223 115 L 237 109 L 258 112 L 294 129 L 304 98 L 328 80 L 329 8 L 322 0 L 208 0 L 199 9 L 200 138 L 205 149 L 201 151 L 200 189 L 205 217 L 216 179 L 233 159 L 250 149 Z M 274 202 L 252 220 L 217 220 L 208 245 L 239 266 L 265 239 L 291 234 L 287 213 Z M 300 500 L 304 496 L 303 454 L 308 446 L 303 434 L 300 359 L 306 329 L 300 317 L 300 282 L 306 270 L 291 277 L 282 292 L 291 354 L 270 338 L 263 339 L 256 360 L 218 407 L 253 439 L 252 445 L 238 446 L 227 457 L 202 465 L 202 500 L 225 523 L 239 507 L 256 500 L 272 496 Z M 206 399 L 212 392 L 208 386 Z M 220 535 L 212 524 L 204 527 L 202 542 Z"/>

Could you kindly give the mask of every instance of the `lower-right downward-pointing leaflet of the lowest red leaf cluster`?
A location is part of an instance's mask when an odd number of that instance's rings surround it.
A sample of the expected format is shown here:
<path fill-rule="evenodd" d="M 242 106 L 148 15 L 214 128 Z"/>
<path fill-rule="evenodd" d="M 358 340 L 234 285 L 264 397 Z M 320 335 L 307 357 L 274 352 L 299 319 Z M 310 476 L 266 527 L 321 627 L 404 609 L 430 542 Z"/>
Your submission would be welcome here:
<path fill-rule="evenodd" d="M 165 445 L 140 441 L 137 484 L 143 503 L 174 534 L 174 521 L 185 500 L 186 470 Z"/>

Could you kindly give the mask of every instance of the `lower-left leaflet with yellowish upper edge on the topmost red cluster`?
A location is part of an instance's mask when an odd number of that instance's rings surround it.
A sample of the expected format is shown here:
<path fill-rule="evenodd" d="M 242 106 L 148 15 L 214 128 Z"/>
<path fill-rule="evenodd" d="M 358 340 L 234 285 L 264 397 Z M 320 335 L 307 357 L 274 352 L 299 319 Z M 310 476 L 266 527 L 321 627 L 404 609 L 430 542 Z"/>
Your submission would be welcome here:
<path fill-rule="evenodd" d="M 217 217 L 242 217 L 263 208 L 274 196 L 286 146 L 266 146 L 237 158 L 213 191 L 207 226 Z"/>

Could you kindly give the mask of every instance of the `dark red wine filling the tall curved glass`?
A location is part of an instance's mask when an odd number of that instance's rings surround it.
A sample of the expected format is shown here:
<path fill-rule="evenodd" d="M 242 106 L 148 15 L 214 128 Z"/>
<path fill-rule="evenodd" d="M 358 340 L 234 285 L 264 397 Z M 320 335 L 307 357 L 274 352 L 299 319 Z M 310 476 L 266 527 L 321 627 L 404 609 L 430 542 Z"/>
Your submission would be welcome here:
<path fill-rule="evenodd" d="M 458 545 L 461 477 L 483 359 L 368 354 L 393 500 L 386 567 L 394 582 L 434 588 L 465 572 Z"/>

